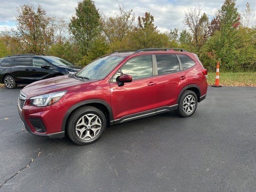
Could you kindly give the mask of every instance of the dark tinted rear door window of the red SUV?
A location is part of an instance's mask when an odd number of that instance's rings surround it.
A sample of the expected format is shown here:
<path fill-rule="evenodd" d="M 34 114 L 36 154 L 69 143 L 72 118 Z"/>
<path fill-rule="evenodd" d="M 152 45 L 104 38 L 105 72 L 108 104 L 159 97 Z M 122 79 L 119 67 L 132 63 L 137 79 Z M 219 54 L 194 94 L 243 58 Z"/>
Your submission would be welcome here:
<path fill-rule="evenodd" d="M 158 75 L 180 71 L 178 58 L 174 54 L 156 55 Z"/>

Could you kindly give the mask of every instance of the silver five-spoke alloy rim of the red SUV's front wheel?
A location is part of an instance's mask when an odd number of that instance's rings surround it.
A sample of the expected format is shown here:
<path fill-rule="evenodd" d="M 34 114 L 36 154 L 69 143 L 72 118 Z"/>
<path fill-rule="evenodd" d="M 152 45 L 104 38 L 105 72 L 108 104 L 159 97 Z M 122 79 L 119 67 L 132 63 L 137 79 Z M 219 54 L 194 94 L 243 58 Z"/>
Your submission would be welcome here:
<path fill-rule="evenodd" d="M 82 140 L 91 140 L 99 134 L 101 126 L 101 120 L 97 115 L 86 114 L 76 123 L 76 134 Z"/>

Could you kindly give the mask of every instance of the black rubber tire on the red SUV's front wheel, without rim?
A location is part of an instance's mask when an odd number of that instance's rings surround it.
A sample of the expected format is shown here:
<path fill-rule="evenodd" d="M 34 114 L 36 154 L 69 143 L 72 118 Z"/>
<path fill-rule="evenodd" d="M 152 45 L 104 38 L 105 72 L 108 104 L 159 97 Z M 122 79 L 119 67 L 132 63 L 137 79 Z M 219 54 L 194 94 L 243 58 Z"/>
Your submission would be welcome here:
<path fill-rule="evenodd" d="M 100 122 L 101 122 L 100 130 L 96 133 L 96 136 L 94 136 L 90 140 L 84 140 L 84 139 L 80 138 L 78 136 L 77 132 L 76 132 L 76 124 L 78 123 L 78 121 L 83 116 L 85 116 L 87 114 L 94 114 L 94 115 L 98 116 L 98 118 L 100 119 Z M 88 124 L 88 122 L 87 122 L 87 124 Z M 83 125 L 81 127 L 85 128 L 85 126 L 83 126 Z M 92 126 L 91 126 L 91 128 L 92 128 Z M 67 126 L 66 126 L 66 132 L 68 134 L 68 137 L 74 143 L 76 143 L 78 145 L 87 145 L 87 144 L 91 144 L 91 143 L 95 142 L 96 140 L 98 140 L 102 136 L 102 134 L 104 133 L 105 129 L 106 129 L 106 117 L 104 116 L 104 114 L 103 114 L 103 112 L 101 110 L 99 110 L 96 107 L 92 107 L 92 106 L 84 106 L 84 107 L 81 107 L 81 108 L 78 108 L 77 110 L 75 110 L 71 114 L 71 116 L 68 118 L 68 122 L 67 122 Z M 85 129 L 84 132 L 87 133 L 87 131 L 89 131 L 89 134 L 90 134 L 90 132 L 92 132 L 92 134 L 94 133 L 92 131 L 92 129 L 88 129 L 88 127 Z M 81 132 L 78 132 L 78 133 L 81 134 Z"/>

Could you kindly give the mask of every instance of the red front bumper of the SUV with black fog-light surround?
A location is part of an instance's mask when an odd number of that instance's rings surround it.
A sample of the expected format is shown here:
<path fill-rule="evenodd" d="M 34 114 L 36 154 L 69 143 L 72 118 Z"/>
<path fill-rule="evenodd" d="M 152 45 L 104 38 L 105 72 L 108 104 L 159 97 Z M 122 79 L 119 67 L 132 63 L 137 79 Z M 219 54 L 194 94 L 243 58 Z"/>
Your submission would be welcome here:
<path fill-rule="evenodd" d="M 48 138 L 62 138 L 65 136 L 65 131 L 61 130 L 61 126 L 67 109 L 59 102 L 46 107 L 35 107 L 26 104 L 22 109 L 19 106 L 17 107 L 20 118 L 28 132 Z M 38 132 L 39 129 L 32 125 L 34 124 L 32 120 L 40 120 L 44 129 Z"/>

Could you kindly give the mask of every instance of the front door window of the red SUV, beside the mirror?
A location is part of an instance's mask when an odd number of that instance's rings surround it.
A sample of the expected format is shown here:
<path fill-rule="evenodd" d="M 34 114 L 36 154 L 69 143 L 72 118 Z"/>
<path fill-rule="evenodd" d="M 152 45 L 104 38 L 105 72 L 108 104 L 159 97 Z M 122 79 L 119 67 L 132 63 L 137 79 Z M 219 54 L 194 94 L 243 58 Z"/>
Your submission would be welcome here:
<path fill-rule="evenodd" d="M 119 70 L 113 78 L 113 81 L 116 81 L 116 78 L 120 74 L 129 74 L 132 75 L 132 79 L 141 79 L 146 77 L 151 77 L 153 73 L 153 63 L 152 56 L 139 56 L 132 58 L 124 66 L 122 66 L 121 71 Z"/>

